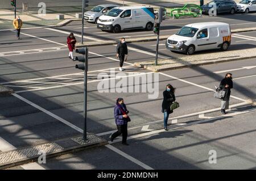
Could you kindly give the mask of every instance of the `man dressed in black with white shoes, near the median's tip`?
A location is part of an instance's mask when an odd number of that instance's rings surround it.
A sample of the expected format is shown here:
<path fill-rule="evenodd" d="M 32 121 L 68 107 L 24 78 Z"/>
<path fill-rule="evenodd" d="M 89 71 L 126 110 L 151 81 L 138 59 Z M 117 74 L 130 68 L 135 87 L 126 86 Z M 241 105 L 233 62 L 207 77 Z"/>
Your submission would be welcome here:
<path fill-rule="evenodd" d="M 119 63 L 119 65 L 120 65 L 119 70 L 120 71 L 123 71 L 123 69 L 122 69 L 123 61 L 126 61 L 125 56 L 128 56 L 128 48 L 127 48 L 127 44 L 125 42 L 125 38 L 122 37 L 121 41 L 117 45 L 117 58 L 119 57 L 119 60 L 120 60 L 120 63 Z M 127 57 L 126 57 L 126 59 L 127 59 Z"/>

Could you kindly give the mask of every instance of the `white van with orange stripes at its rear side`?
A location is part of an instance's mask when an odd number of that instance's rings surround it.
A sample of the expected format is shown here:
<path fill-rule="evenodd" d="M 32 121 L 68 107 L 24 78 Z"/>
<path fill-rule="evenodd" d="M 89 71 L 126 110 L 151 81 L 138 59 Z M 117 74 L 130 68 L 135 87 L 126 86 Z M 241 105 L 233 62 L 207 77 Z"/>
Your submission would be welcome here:
<path fill-rule="evenodd" d="M 230 26 L 221 22 L 188 24 L 166 40 L 168 50 L 186 54 L 216 48 L 227 50 L 230 44 Z"/>

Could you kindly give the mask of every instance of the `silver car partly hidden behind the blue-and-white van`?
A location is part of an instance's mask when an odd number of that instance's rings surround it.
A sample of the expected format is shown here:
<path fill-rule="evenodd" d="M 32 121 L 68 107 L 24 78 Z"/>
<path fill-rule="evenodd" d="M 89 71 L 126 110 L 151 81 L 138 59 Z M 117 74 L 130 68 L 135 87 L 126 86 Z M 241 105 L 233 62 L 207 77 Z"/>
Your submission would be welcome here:
<path fill-rule="evenodd" d="M 106 4 L 95 6 L 90 11 L 85 12 L 84 19 L 87 22 L 97 23 L 97 20 L 101 15 L 106 14 L 109 10 L 113 9 L 114 7 L 118 7 L 118 5 Z"/>

